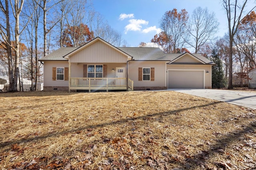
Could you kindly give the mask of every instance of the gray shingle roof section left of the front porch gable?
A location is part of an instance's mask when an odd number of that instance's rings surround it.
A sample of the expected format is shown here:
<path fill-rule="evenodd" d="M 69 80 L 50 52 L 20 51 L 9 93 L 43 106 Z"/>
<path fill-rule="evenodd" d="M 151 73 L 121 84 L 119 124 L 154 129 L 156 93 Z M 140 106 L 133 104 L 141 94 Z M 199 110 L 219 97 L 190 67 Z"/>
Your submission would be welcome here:
<path fill-rule="evenodd" d="M 64 56 L 76 49 L 78 49 L 78 47 L 62 47 L 42 57 L 39 61 L 50 61 L 50 60 L 67 61 L 67 59 L 65 59 Z"/>

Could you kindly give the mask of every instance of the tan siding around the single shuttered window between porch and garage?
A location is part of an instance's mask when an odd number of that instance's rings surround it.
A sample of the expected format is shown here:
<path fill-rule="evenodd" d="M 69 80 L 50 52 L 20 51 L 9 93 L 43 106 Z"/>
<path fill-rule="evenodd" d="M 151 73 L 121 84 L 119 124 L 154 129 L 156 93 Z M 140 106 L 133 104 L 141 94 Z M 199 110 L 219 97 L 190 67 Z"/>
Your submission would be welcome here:
<path fill-rule="evenodd" d="M 147 67 L 155 68 L 155 80 L 154 81 L 138 81 L 138 70 L 139 68 Z M 132 61 L 129 62 L 129 78 L 134 81 L 134 87 L 143 86 L 166 86 L 166 63 L 165 62 L 146 62 L 146 61 Z"/>

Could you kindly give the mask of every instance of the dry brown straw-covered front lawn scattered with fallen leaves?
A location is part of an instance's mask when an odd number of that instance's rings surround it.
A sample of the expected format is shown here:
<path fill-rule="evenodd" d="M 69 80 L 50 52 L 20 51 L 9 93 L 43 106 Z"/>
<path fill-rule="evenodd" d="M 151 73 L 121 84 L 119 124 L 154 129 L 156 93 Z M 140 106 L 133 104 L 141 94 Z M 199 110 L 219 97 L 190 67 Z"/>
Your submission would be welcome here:
<path fill-rule="evenodd" d="M 0 169 L 254 169 L 256 111 L 178 92 L 0 94 Z"/>

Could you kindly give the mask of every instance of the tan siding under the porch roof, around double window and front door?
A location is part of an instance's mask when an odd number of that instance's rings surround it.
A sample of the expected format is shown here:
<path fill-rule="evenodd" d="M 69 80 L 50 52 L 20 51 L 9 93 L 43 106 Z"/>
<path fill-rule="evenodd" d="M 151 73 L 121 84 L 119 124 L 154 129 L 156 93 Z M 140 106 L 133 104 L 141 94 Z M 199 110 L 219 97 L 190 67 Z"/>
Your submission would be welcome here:
<path fill-rule="evenodd" d="M 84 64 L 90 65 L 95 63 L 71 63 L 71 77 L 83 77 L 83 67 Z M 107 65 L 107 77 L 114 78 L 116 77 L 116 67 L 124 67 L 125 68 L 125 77 L 126 77 L 126 63 L 97 63 L 97 64 L 106 64 Z M 114 71 L 112 71 L 114 68 Z"/>

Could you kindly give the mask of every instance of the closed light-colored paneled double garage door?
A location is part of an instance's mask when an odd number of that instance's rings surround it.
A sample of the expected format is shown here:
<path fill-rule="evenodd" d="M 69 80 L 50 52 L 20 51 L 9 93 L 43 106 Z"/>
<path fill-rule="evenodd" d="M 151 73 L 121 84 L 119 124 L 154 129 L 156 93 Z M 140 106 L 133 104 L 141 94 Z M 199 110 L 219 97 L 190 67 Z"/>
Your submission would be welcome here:
<path fill-rule="evenodd" d="M 204 71 L 168 70 L 168 88 L 204 88 Z"/>

